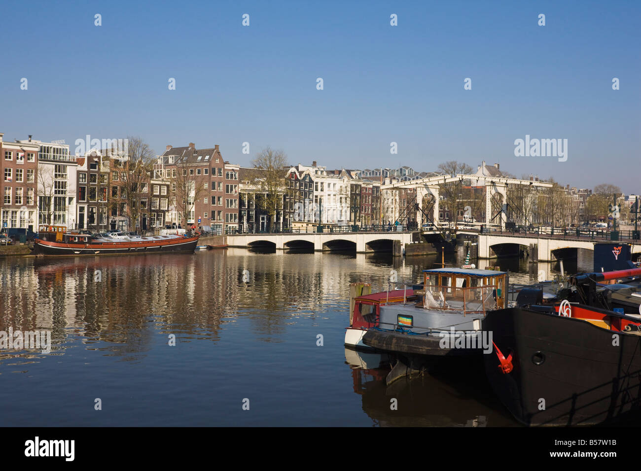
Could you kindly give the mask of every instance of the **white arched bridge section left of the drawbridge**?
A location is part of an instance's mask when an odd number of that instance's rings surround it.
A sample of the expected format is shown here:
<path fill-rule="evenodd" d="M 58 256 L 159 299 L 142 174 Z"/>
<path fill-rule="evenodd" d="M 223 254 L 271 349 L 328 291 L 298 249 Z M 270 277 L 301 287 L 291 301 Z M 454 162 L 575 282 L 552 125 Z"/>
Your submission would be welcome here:
<path fill-rule="evenodd" d="M 227 236 L 229 247 L 271 247 L 276 250 L 313 249 L 319 252 L 333 250 L 350 250 L 357 253 L 391 252 L 395 241 L 399 241 L 400 253 L 403 254 L 405 252 L 405 244 L 412 242 L 412 233 L 285 233 Z"/>

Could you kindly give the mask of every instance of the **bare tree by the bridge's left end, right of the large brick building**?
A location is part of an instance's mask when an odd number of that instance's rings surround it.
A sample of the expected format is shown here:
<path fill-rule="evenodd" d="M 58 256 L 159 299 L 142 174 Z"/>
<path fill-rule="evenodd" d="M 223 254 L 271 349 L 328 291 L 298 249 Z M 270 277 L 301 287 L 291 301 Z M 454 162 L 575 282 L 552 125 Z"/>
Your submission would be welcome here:
<path fill-rule="evenodd" d="M 251 165 L 256 169 L 252 179 L 260 186 L 263 194 L 262 198 L 256 199 L 256 206 L 269 215 L 273 230 L 276 226 L 276 212 L 279 206 L 282 208 L 283 193 L 287 188 L 285 172 L 290 167 L 287 156 L 283 151 L 274 151 L 270 147 L 265 147 L 256 154 Z"/>

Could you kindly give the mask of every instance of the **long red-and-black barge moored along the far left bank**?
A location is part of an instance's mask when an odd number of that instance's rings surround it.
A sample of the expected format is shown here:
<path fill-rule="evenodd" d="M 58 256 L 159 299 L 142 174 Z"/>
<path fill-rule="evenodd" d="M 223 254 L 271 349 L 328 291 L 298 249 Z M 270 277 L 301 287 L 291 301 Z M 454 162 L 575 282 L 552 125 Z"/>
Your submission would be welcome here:
<path fill-rule="evenodd" d="M 113 238 L 67 232 L 61 226 L 41 226 L 33 254 L 43 256 L 120 255 L 193 252 L 200 233 Z"/>

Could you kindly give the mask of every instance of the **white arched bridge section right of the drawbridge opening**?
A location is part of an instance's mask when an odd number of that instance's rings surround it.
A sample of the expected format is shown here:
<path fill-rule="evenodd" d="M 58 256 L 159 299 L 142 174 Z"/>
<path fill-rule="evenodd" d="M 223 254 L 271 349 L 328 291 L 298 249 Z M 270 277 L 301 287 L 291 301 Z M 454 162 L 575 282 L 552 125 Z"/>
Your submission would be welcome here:
<path fill-rule="evenodd" d="M 610 241 L 605 238 L 590 238 L 549 234 L 518 234 L 518 233 L 477 233 L 476 231 L 459 231 L 465 234 L 478 234 L 478 256 L 479 258 L 495 258 L 503 254 L 518 253 L 519 245 L 529 247 L 530 256 L 537 261 L 556 261 L 558 258 L 565 258 L 564 252 L 576 251 L 577 249 L 588 249 L 594 251 L 595 244 L 612 242 L 613 244 L 632 244 L 631 253 L 641 253 L 641 245 L 638 240 L 622 239 Z M 636 244 L 636 245 L 635 245 Z"/>

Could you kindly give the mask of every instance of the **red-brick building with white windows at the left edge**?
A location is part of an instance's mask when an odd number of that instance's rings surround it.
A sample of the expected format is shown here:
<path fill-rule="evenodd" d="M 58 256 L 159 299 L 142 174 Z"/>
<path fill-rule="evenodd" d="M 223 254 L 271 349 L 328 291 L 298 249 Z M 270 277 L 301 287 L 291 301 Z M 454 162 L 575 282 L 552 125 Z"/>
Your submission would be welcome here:
<path fill-rule="evenodd" d="M 37 224 L 38 151 L 36 142 L 3 142 L 0 133 L 2 226 L 35 229 Z"/>

